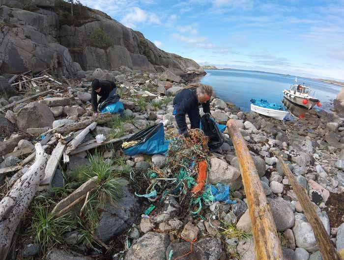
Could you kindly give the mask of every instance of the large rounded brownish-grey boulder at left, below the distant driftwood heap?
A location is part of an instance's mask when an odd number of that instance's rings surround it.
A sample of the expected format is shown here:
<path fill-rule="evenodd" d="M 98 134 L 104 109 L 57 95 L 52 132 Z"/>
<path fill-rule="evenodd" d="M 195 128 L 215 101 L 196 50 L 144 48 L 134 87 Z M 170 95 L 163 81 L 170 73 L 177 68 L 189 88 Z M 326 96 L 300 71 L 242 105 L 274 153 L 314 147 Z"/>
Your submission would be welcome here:
<path fill-rule="evenodd" d="M 47 105 L 30 103 L 18 112 L 17 126 L 26 132 L 28 128 L 52 127 L 54 120 L 54 114 Z"/>

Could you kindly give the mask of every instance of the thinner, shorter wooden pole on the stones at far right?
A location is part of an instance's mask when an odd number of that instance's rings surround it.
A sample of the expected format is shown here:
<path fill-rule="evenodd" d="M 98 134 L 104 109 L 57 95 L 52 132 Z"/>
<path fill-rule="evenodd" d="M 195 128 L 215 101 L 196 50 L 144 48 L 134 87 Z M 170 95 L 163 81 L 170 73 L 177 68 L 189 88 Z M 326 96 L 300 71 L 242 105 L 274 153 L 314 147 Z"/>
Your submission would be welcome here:
<path fill-rule="evenodd" d="M 311 224 L 316 243 L 319 247 L 321 256 L 324 260 L 339 260 L 336 249 L 332 246 L 330 236 L 327 234 L 324 225 L 322 224 L 319 216 L 315 212 L 315 208 L 308 197 L 307 191 L 296 180 L 286 163 L 283 161 L 282 156 L 278 158 L 281 162 L 283 171 L 285 172 L 289 182 L 295 192 L 299 202 L 305 212 L 308 222 Z"/>

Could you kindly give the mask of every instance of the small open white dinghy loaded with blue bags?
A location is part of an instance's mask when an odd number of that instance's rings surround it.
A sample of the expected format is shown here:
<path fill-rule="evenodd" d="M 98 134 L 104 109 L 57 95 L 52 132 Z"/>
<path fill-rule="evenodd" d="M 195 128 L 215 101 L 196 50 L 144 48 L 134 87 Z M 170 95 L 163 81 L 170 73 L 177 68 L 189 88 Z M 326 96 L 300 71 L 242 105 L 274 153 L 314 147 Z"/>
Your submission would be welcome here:
<path fill-rule="evenodd" d="M 265 99 L 251 99 L 251 111 L 277 120 L 283 120 L 289 114 L 288 111 L 283 110 L 282 105 L 268 103 Z"/>

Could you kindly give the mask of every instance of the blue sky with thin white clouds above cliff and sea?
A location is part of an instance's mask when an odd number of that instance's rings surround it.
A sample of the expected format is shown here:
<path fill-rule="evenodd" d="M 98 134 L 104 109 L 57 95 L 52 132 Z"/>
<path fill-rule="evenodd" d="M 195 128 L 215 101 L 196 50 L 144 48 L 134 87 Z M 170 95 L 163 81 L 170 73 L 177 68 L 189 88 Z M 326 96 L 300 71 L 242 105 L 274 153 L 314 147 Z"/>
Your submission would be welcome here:
<path fill-rule="evenodd" d="M 81 0 L 221 68 L 344 80 L 344 0 Z"/>

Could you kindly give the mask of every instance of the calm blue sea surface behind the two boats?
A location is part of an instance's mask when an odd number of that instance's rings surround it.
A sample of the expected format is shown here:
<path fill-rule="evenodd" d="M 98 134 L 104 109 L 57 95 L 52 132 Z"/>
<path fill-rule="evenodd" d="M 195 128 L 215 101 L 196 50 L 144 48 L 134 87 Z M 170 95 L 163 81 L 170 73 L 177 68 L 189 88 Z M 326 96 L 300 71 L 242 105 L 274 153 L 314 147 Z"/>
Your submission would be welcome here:
<path fill-rule="evenodd" d="M 244 71 L 244 70 L 206 70 L 207 75 L 201 83 L 213 86 L 216 96 L 226 102 L 232 102 L 242 111 L 250 111 L 250 100 L 266 99 L 268 102 L 282 104 L 283 90 L 294 84 L 295 76 Z M 342 89 L 341 86 L 327 84 L 310 78 L 297 77 L 298 83 L 305 82 L 320 99 L 321 108 L 329 111 L 333 100 Z"/>

